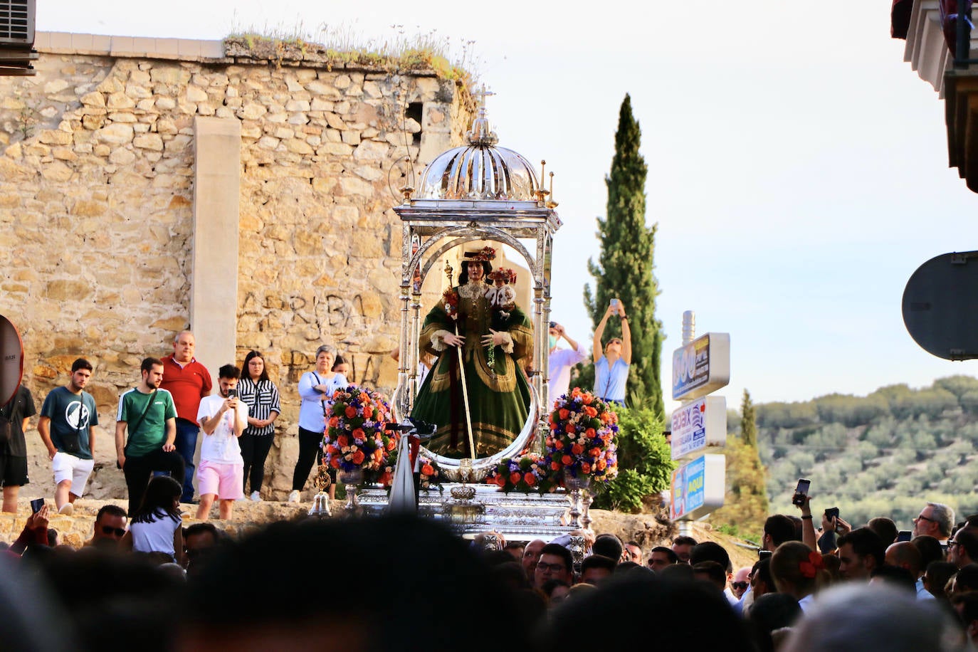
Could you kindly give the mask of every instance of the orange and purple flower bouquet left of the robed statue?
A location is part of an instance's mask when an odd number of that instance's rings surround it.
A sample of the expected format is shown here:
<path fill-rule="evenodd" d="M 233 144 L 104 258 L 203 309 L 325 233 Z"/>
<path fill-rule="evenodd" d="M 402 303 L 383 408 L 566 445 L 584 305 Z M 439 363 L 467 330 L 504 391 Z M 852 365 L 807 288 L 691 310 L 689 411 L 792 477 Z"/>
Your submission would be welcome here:
<path fill-rule="evenodd" d="M 390 420 L 390 406 L 381 394 L 354 385 L 337 389 L 327 403 L 326 463 L 337 471 L 363 471 L 366 482 L 389 484 L 388 461 L 400 437 L 384 431 Z"/>

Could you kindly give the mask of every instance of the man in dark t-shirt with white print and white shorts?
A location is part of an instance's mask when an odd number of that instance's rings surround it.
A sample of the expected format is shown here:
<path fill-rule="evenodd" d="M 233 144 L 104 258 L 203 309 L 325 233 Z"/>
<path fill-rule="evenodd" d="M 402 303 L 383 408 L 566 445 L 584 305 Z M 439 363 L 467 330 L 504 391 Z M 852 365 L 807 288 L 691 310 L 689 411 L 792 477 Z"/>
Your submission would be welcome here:
<path fill-rule="evenodd" d="M 99 413 L 95 399 L 85 392 L 91 377 L 92 363 L 84 358 L 75 360 L 67 385 L 52 390 L 44 398 L 37 423 L 58 485 L 55 506 L 58 513 L 66 516 L 74 511 L 74 500 L 85 493 L 88 476 L 95 466 L 93 426 L 99 424 Z"/>

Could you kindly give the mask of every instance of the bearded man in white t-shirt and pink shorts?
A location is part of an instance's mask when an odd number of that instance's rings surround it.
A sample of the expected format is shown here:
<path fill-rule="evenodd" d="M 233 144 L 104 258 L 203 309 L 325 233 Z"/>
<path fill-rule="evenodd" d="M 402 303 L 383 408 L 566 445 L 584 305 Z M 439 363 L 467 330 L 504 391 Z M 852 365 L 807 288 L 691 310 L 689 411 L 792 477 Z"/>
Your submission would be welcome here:
<path fill-rule="evenodd" d="M 215 498 L 220 500 L 220 517 L 225 520 L 231 518 L 235 500 L 244 498 L 244 459 L 238 438 L 247 426 L 247 405 L 238 400 L 241 372 L 234 365 L 225 365 L 217 374 L 218 394 L 200 399 L 197 413 L 204 435 L 197 467 L 200 520 L 207 519 Z"/>

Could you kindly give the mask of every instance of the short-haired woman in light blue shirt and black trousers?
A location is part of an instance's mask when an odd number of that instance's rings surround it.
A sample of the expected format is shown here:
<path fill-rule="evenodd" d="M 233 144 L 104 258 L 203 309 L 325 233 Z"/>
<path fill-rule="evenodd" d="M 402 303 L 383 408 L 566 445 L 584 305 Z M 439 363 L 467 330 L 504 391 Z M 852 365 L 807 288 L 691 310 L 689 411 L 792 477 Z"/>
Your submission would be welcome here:
<path fill-rule="evenodd" d="M 322 456 L 320 447 L 323 443 L 323 432 L 326 430 L 326 402 L 333 397 L 334 391 L 349 384 L 346 376 L 333 371 L 335 359 L 336 349 L 324 344 L 316 349 L 316 369 L 306 371 L 299 378 L 299 396 L 302 398 L 299 406 L 299 456 L 292 472 L 289 502 L 299 501 L 299 492 L 309 478 L 313 462 L 318 463 Z M 335 480 L 332 469 L 330 477 Z M 331 483 L 331 499 L 335 491 L 335 485 Z"/>

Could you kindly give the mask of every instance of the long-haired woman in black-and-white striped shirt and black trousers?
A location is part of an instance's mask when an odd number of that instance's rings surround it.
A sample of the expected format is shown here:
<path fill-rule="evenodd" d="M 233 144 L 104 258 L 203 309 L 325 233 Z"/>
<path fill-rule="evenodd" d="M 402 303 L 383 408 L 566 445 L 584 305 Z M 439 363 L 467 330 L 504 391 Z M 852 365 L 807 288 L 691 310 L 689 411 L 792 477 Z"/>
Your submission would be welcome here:
<path fill-rule="evenodd" d="M 247 427 L 238 442 L 244 458 L 244 487 L 247 487 L 250 476 L 251 500 L 258 501 L 265 479 L 265 458 L 275 439 L 275 419 L 282 409 L 279 407 L 279 388 L 268 379 L 265 359 L 257 351 L 244 356 L 238 395 L 247 405 Z"/>

